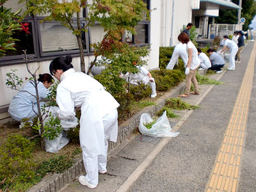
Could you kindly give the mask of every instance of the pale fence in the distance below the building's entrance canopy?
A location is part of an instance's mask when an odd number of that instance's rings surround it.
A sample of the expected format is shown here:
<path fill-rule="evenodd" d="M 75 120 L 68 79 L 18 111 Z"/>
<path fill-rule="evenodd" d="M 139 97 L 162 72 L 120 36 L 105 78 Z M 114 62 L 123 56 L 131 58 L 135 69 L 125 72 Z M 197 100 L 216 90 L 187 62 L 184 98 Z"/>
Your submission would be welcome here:
<path fill-rule="evenodd" d="M 208 39 L 214 39 L 215 36 L 233 35 L 235 31 L 242 29 L 241 24 L 209 24 Z"/>

